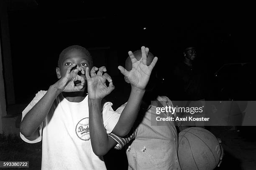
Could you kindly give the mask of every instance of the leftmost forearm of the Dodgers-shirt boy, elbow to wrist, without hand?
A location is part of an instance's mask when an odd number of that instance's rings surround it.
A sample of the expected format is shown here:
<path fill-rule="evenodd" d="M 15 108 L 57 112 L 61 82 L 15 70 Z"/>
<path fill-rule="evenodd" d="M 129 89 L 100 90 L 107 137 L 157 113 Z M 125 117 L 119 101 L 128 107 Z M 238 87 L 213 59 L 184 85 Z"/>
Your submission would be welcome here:
<path fill-rule="evenodd" d="M 56 89 L 56 87 L 51 85 L 44 97 L 42 97 L 41 100 L 39 100 L 36 105 L 25 115 L 20 123 L 20 132 L 24 136 L 29 137 L 35 133 L 35 131 L 44 121 L 51 108 L 51 105 L 59 93 L 60 92 Z"/>

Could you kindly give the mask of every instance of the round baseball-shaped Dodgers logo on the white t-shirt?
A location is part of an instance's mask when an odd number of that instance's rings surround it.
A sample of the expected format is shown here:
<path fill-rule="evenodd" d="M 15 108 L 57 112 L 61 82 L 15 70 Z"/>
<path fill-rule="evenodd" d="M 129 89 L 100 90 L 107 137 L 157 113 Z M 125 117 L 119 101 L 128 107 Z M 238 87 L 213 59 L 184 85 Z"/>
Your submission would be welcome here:
<path fill-rule="evenodd" d="M 85 117 L 77 123 L 76 133 L 79 139 L 81 140 L 89 140 L 90 132 L 89 132 L 89 117 Z"/>

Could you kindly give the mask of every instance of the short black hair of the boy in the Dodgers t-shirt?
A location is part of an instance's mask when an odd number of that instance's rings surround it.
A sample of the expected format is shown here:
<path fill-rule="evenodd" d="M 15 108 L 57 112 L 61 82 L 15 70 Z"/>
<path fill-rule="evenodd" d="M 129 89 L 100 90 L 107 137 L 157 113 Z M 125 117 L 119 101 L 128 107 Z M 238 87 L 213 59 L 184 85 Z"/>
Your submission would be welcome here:
<path fill-rule="evenodd" d="M 92 56 L 91 56 L 90 52 L 89 52 L 86 48 L 84 48 L 84 47 L 82 47 L 82 46 L 80 46 L 80 45 L 71 45 L 71 46 L 65 48 L 65 49 L 59 54 L 58 67 L 61 66 L 61 62 L 62 62 L 62 60 L 63 60 L 63 57 L 64 57 L 67 53 L 71 52 L 72 50 L 79 50 L 79 51 L 83 52 L 83 53 L 88 57 L 89 68 L 90 68 L 90 69 L 92 68 L 92 66 L 93 66 L 93 60 L 92 60 Z"/>

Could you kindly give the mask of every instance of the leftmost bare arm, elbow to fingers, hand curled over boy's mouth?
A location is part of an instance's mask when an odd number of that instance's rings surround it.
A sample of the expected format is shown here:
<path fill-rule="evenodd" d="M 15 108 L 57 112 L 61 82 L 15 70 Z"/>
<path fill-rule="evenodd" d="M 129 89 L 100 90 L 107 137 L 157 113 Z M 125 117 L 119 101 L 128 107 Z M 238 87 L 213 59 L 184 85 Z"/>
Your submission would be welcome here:
<path fill-rule="evenodd" d="M 44 121 L 46 115 L 48 114 L 55 98 L 61 92 L 73 92 L 79 91 L 83 88 L 85 82 L 84 77 L 77 75 L 79 70 L 82 70 L 80 67 L 72 70 L 72 67 L 76 65 L 70 65 L 67 68 L 67 72 L 64 77 L 59 77 L 54 85 L 51 85 L 46 92 L 46 94 L 36 103 L 35 106 L 25 115 L 22 122 L 20 123 L 20 133 L 22 133 L 29 140 L 33 140 L 39 135 L 39 126 Z M 74 86 L 74 81 L 80 80 L 80 86 Z"/>

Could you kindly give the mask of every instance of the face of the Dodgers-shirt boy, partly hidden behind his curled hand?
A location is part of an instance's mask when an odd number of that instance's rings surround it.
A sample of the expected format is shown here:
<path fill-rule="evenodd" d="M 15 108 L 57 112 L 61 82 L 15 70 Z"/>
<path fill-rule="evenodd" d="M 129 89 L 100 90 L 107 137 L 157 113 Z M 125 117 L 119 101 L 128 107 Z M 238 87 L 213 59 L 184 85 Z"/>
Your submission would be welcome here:
<path fill-rule="evenodd" d="M 73 63 L 76 64 L 76 66 L 74 68 L 81 67 L 85 71 L 86 67 L 90 67 L 89 62 L 87 60 L 88 60 L 87 55 L 85 55 L 83 52 L 81 52 L 79 50 L 72 50 L 72 51 L 68 52 L 66 55 L 64 55 L 63 59 L 61 60 L 60 67 L 56 68 L 57 77 L 59 79 L 61 77 L 64 77 L 67 72 L 67 68 L 70 65 L 72 65 Z M 81 74 L 81 72 L 78 72 L 78 75 L 84 77 L 84 79 L 86 80 L 85 75 Z M 81 83 L 80 81 L 75 82 L 75 85 L 76 86 L 80 85 L 80 83 Z M 86 83 L 85 83 L 85 85 L 86 85 Z M 82 90 L 84 90 L 84 88 Z"/>

